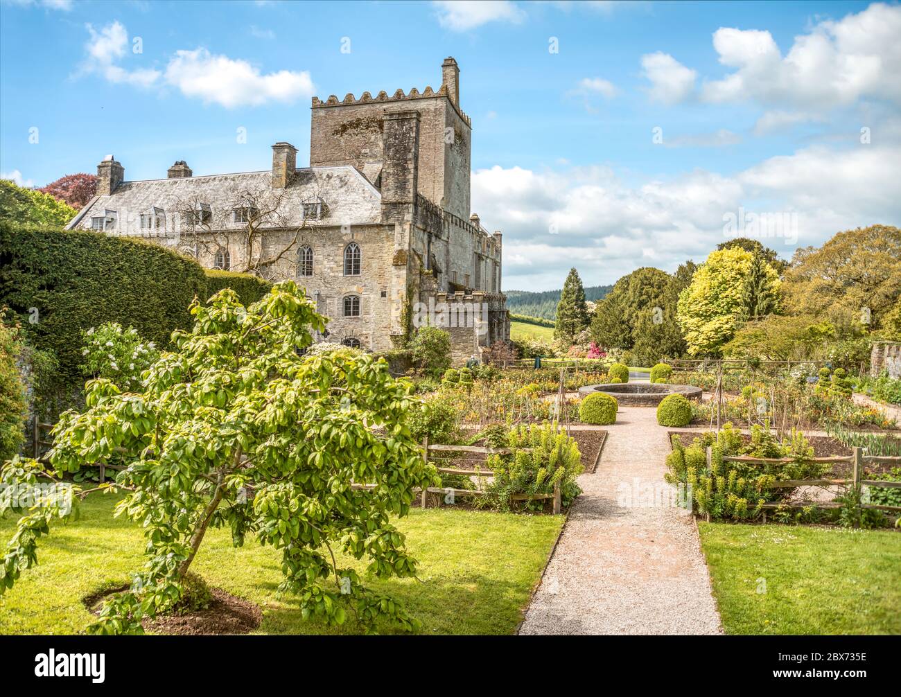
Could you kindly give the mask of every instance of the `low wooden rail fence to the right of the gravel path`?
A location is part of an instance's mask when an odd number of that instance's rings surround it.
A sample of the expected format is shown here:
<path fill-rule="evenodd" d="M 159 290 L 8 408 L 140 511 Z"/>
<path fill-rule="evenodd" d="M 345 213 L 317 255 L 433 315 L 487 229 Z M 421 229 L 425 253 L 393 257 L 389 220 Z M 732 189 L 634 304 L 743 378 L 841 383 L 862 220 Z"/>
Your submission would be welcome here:
<path fill-rule="evenodd" d="M 724 462 L 742 462 L 748 465 L 787 465 L 794 463 L 791 457 L 747 457 L 747 456 L 731 456 L 724 455 Z M 832 456 L 832 457 L 814 457 L 811 462 L 818 463 L 849 463 L 851 465 L 851 479 L 784 479 L 780 482 L 770 484 L 772 489 L 788 489 L 796 486 L 850 486 L 851 492 L 859 502 L 860 508 L 867 508 L 877 511 L 886 511 L 892 513 L 901 513 L 901 506 L 881 506 L 873 503 L 860 502 L 860 495 L 863 486 L 879 486 L 890 489 L 901 488 L 901 482 L 882 480 L 882 479 L 863 479 L 863 467 L 868 464 L 887 464 L 901 466 L 901 457 L 886 457 L 876 455 L 864 455 L 863 448 L 851 448 L 851 455 Z M 711 468 L 713 463 L 713 447 L 707 446 L 707 469 Z M 768 509 L 779 508 L 806 508 L 807 506 L 815 506 L 818 508 L 841 508 L 841 503 L 836 502 L 816 502 L 803 501 L 795 503 L 769 502 L 764 503 L 763 521 L 766 522 Z M 710 520 L 710 514 L 707 514 L 707 520 Z"/>

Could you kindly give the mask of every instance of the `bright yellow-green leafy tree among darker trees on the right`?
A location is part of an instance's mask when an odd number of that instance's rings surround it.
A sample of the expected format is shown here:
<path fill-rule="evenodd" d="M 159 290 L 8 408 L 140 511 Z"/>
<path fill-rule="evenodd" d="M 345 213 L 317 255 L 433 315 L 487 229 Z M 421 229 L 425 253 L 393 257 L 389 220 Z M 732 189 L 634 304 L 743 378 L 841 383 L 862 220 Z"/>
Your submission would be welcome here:
<path fill-rule="evenodd" d="M 678 299 L 678 322 L 684 331 L 688 353 L 717 356 L 742 324 L 745 279 L 751 270 L 751 252 L 739 247 L 711 252 L 699 267 L 691 284 Z M 779 279 L 775 269 L 764 263 L 769 282 L 763 287 L 760 303 L 767 296 L 778 299 Z"/>

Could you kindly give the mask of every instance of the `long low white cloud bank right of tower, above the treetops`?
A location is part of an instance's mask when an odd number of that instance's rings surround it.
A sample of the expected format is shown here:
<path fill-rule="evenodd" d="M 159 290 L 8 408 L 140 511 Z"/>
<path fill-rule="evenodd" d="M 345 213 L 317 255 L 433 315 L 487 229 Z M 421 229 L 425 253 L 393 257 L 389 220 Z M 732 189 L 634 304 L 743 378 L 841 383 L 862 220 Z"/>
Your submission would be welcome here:
<path fill-rule="evenodd" d="M 733 176 L 696 169 L 627 186 L 609 167 L 536 172 L 491 167 L 472 175 L 473 210 L 504 232 L 504 287 L 559 288 L 574 264 L 585 283 L 636 267 L 675 270 L 735 234 L 724 216 L 797 213 L 796 239 L 760 241 L 790 258 L 835 232 L 901 219 L 894 163 L 901 147 L 801 149 Z M 766 203 L 762 203 L 766 202 Z"/>

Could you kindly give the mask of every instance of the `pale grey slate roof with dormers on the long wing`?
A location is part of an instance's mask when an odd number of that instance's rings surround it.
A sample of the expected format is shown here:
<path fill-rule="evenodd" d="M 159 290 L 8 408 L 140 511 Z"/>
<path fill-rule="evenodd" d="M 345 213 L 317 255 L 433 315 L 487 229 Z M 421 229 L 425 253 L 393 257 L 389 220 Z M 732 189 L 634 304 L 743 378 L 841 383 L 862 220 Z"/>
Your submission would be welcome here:
<path fill-rule="evenodd" d="M 206 204 L 214 216 L 214 229 L 238 229 L 241 224 L 232 224 L 231 212 L 240 204 L 243 192 L 250 192 L 258 201 L 264 202 L 279 193 L 272 188 L 272 171 L 269 169 L 206 177 L 124 181 L 112 195 L 96 196 L 67 228 L 89 229 L 91 218 L 114 211 L 116 233 L 146 234 L 149 231 L 141 230 L 141 214 L 152 213 L 157 208 L 166 212 L 167 232 L 173 233 L 176 231 L 173 226 L 183 225 L 183 216 L 177 214 L 179 211 L 195 204 Z M 359 225 L 381 220 L 381 194 L 358 169 L 349 165 L 297 169 L 284 195 L 278 210 L 288 226 L 300 226 L 304 221 L 303 204 L 314 203 L 317 197 L 327 208 L 320 224 Z"/>

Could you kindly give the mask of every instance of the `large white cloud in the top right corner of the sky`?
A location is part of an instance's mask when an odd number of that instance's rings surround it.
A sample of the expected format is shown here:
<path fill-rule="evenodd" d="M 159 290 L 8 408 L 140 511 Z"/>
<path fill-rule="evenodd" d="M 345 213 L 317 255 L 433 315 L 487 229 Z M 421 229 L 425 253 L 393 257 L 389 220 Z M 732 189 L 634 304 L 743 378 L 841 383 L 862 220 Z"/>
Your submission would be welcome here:
<path fill-rule="evenodd" d="M 785 57 L 769 32 L 721 27 L 714 49 L 736 68 L 705 82 L 708 102 L 758 101 L 824 109 L 861 98 L 901 102 L 901 6 L 876 3 L 795 37 Z"/>

